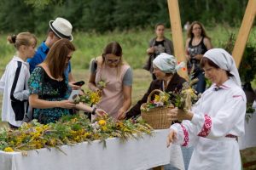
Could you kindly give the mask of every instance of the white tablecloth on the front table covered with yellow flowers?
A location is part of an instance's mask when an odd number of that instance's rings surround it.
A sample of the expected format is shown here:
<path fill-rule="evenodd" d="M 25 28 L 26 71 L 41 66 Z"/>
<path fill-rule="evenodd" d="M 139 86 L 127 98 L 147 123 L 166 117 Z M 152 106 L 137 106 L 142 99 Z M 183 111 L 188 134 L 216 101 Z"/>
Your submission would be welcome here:
<path fill-rule="evenodd" d="M 107 148 L 94 141 L 73 146 L 62 146 L 67 155 L 56 149 L 20 152 L 0 151 L 0 170 L 144 170 L 168 164 L 170 161 L 183 169 L 183 158 L 179 146 L 166 148 L 169 130 L 156 130 L 154 136 L 144 135 L 143 139 L 107 139 Z"/>

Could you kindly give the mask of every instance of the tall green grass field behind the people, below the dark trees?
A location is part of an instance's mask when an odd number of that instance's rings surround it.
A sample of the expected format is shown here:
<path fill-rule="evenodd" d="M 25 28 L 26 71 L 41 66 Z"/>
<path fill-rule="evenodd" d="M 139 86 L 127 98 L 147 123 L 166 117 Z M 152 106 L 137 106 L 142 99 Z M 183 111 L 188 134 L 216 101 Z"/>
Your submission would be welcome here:
<path fill-rule="evenodd" d="M 207 27 L 207 33 L 212 37 L 214 47 L 222 47 L 222 44 L 228 40 L 229 33 L 237 33 L 237 28 L 218 25 L 215 27 Z M 8 34 L 0 35 L 0 71 L 9 62 L 15 54 L 15 48 L 6 41 Z M 44 40 L 46 35 L 36 35 L 38 37 L 38 45 Z M 117 41 L 121 44 L 124 53 L 124 59 L 134 68 L 142 68 L 147 59 L 146 49 L 148 41 L 154 37 L 154 31 L 147 28 L 144 30 L 132 31 L 113 31 L 105 34 L 73 32 L 73 43 L 77 50 L 73 55 L 72 66 L 75 69 L 87 69 L 90 59 L 102 54 L 102 50 L 108 42 Z M 166 29 L 166 37 L 172 39 L 170 29 Z M 185 40 L 185 32 L 183 32 L 183 40 Z M 256 28 L 251 31 L 249 42 L 256 46 Z"/>

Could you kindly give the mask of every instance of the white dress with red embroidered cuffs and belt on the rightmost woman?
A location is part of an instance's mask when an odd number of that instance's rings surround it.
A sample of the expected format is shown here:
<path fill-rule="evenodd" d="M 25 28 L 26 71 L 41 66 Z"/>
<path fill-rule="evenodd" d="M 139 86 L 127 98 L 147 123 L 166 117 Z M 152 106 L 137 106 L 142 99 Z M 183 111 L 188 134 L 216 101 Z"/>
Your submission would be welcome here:
<path fill-rule="evenodd" d="M 246 102 L 232 79 L 219 89 L 212 84 L 193 107 L 192 120 L 171 126 L 177 131 L 175 144 L 195 146 L 189 170 L 241 169 L 236 137 L 244 134 Z"/>

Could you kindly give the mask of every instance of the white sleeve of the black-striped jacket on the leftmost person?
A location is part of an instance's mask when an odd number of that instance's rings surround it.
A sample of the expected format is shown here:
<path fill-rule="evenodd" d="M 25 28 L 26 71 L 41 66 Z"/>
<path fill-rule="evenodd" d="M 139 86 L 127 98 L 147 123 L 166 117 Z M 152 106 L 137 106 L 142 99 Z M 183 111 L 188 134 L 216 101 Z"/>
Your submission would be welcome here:
<path fill-rule="evenodd" d="M 24 65 L 21 65 L 20 69 L 20 75 L 16 82 L 16 88 L 14 92 L 15 99 L 19 99 L 20 101 L 27 100 L 29 96 L 28 89 L 24 90 L 24 87 L 26 87 L 26 80 L 29 77 L 28 70 L 25 68 Z M 15 82 L 14 82 L 15 83 Z"/>

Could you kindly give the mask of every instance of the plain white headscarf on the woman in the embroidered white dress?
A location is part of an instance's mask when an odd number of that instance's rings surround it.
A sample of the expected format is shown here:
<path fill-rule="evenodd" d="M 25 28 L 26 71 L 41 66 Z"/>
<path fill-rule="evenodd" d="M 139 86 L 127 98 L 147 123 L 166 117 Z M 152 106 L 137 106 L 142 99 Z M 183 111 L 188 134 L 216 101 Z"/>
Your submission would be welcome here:
<path fill-rule="evenodd" d="M 241 87 L 241 80 L 239 77 L 238 70 L 236 68 L 236 63 L 233 57 L 222 48 L 212 48 L 204 54 L 203 57 L 211 59 L 213 63 L 219 66 L 219 68 L 229 71 L 234 77 L 230 77 L 236 82 L 236 84 Z"/>

